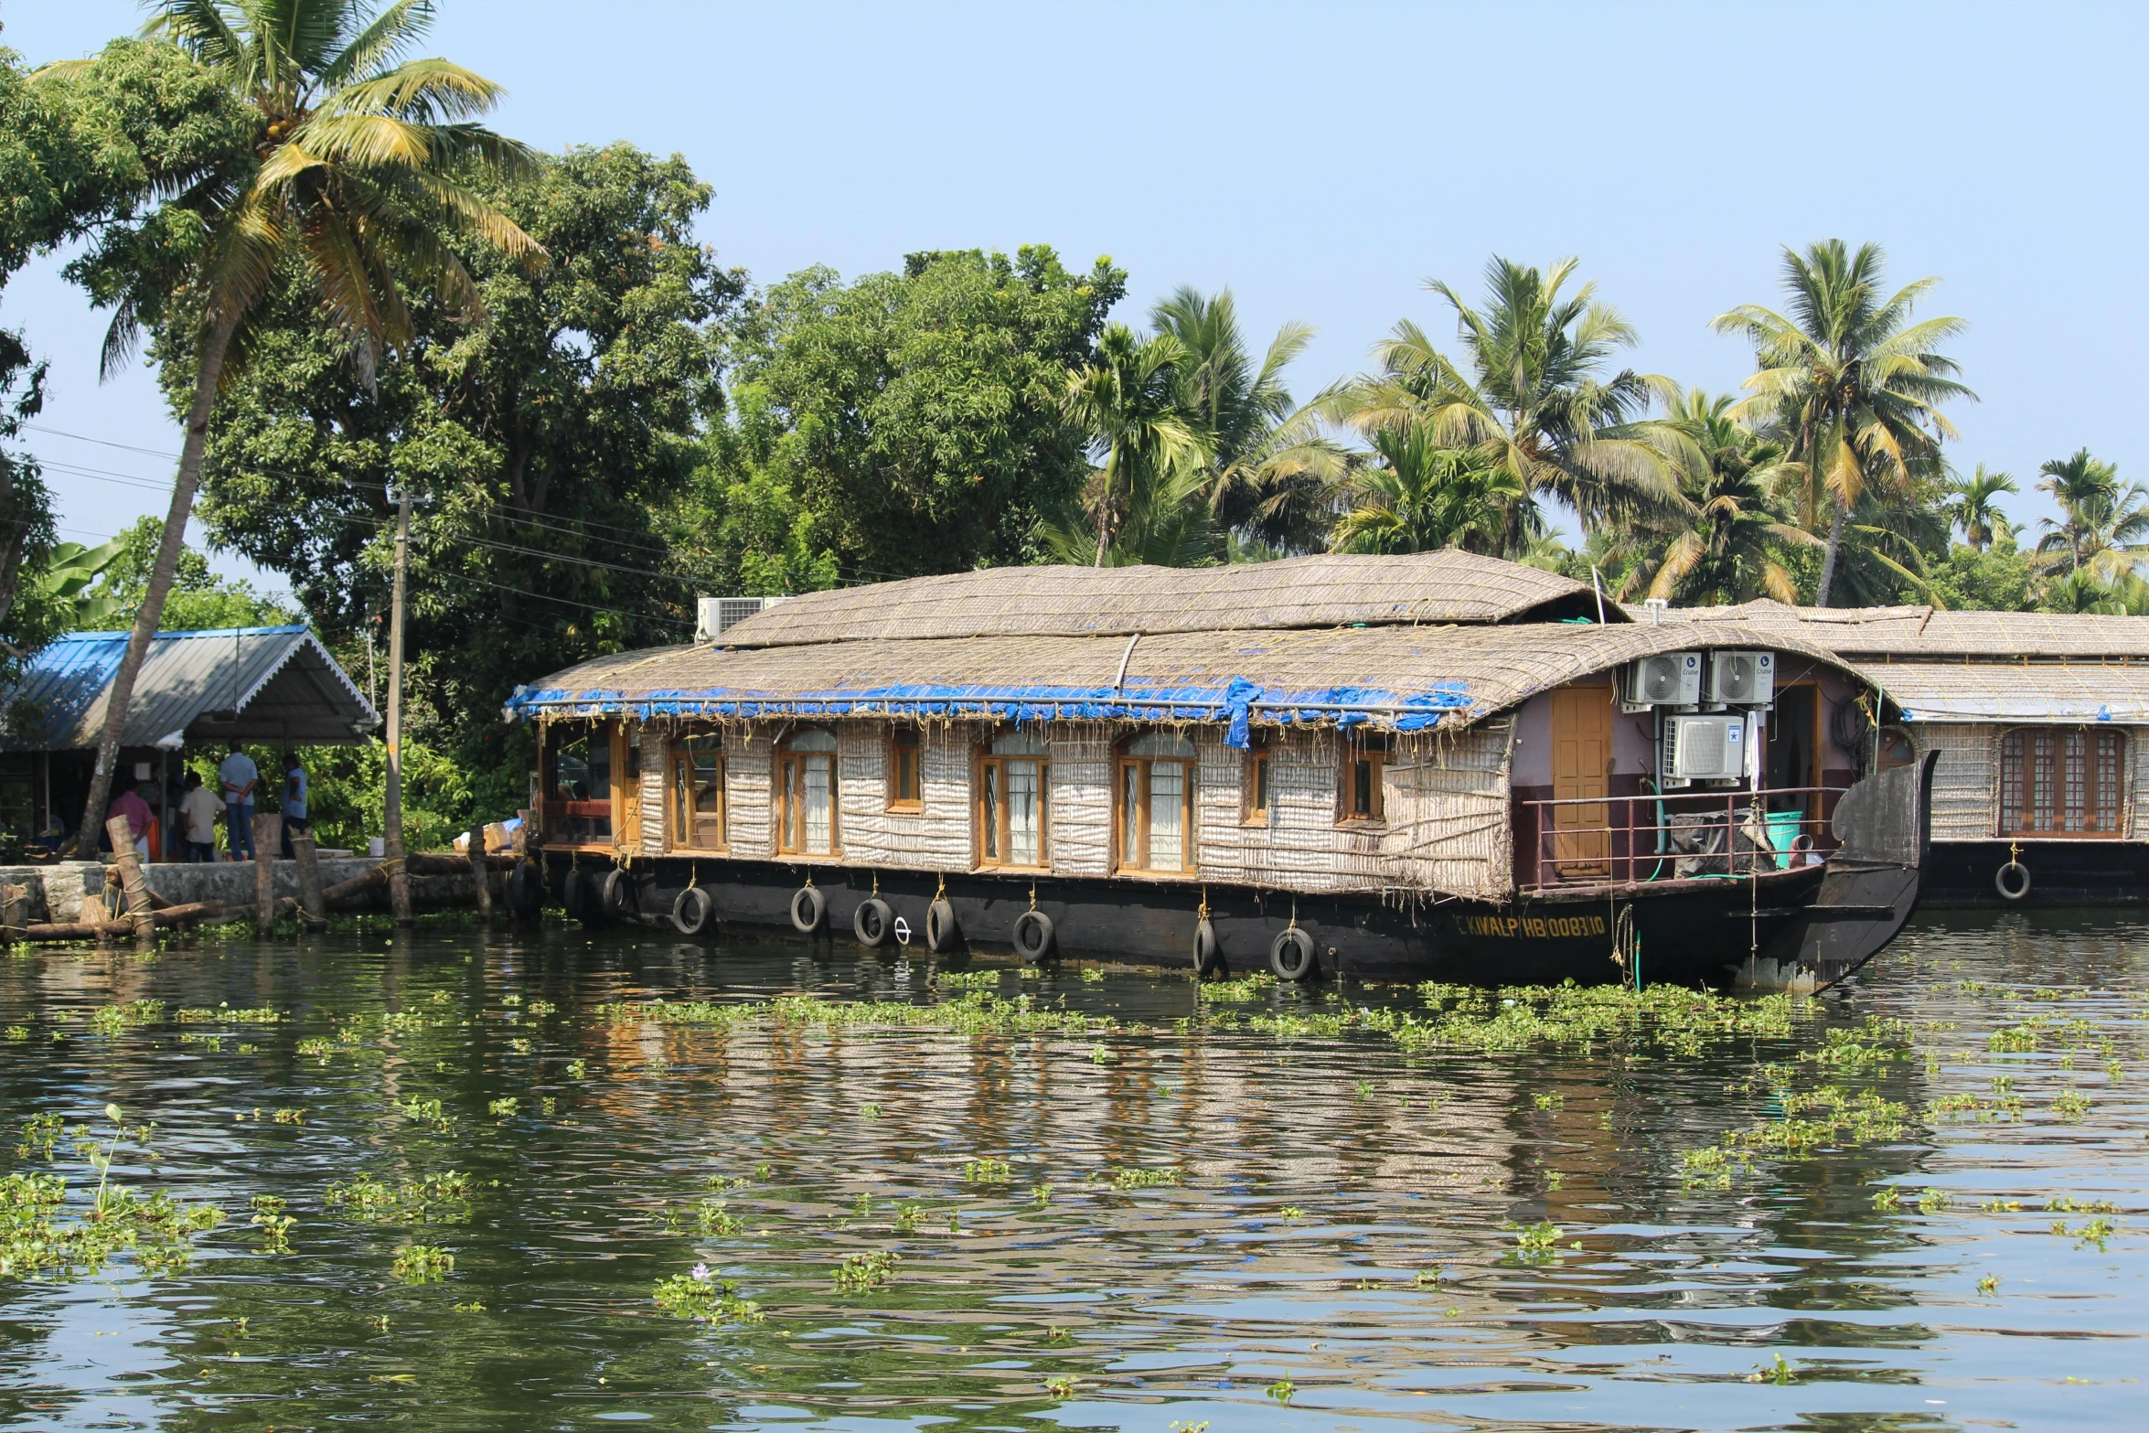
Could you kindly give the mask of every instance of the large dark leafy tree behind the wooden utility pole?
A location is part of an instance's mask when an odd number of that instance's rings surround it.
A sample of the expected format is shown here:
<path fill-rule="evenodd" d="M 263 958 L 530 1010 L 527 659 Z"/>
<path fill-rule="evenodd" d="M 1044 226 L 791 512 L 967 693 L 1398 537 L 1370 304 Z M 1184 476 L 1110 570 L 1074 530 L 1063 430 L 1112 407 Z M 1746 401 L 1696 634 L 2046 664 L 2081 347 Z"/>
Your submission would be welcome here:
<path fill-rule="evenodd" d="M 744 290 L 694 241 L 709 198 L 683 159 L 628 144 L 539 159 L 484 200 L 548 264 L 460 241 L 484 324 L 419 299 L 367 382 L 288 286 L 219 402 L 211 539 L 284 574 L 346 664 L 387 647 L 391 488 L 410 486 L 408 730 L 488 816 L 527 797 L 529 733 L 499 722 L 516 683 L 692 634 L 701 539 L 675 520 Z M 438 769 L 413 763 L 413 801 L 453 812 L 464 797 L 426 788 Z"/>

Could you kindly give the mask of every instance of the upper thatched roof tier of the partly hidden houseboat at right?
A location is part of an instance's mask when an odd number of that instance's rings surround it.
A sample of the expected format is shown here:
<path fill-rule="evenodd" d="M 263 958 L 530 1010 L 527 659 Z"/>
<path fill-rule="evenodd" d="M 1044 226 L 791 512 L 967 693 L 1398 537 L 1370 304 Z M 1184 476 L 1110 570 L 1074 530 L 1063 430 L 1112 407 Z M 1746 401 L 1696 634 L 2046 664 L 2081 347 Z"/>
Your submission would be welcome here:
<path fill-rule="evenodd" d="M 1642 606 L 1629 606 L 1627 614 L 1638 623 L 1653 621 Z M 1764 597 L 1730 608 L 1663 608 L 1663 621 L 1799 634 L 1846 657 L 1880 662 L 2149 657 L 2149 617 L 1943 612 L 1926 606 L 1792 608 Z"/>

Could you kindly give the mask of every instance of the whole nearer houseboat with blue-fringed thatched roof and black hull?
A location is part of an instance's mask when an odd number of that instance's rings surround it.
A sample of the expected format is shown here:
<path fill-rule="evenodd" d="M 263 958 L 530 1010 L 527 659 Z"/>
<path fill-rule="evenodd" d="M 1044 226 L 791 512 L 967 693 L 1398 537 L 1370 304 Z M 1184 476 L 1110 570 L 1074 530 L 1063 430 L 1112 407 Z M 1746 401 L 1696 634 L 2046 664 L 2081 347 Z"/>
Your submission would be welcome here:
<path fill-rule="evenodd" d="M 1917 900 L 1930 767 L 1855 786 L 1831 720 L 1874 700 L 1799 634 L 1429 552 L 810 593 L 505 715 L 546 894 L 593 922 L 1814 984 Z"/>

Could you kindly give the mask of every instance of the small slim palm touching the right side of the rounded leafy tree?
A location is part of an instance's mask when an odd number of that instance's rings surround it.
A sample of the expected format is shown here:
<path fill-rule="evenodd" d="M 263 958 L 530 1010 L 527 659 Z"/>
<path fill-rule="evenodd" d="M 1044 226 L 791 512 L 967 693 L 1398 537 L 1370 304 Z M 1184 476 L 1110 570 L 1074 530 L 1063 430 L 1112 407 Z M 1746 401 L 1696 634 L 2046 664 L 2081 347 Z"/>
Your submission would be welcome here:
<path fill-rule="evenodd" d="M 1096 361 L 1068 374 L 1062 410 L 1083 430 L 1102 464 L 1083 492 L 1096 529 L 1096 567 L 1137 496 L 1180 490 L 1171 475 L 1201 471 L 1208 449 L 1180 408 L 1180 365 L 1188 352 L 1169 333 L 1141 337 L 1126 324 L 1105 324 Z"/>

